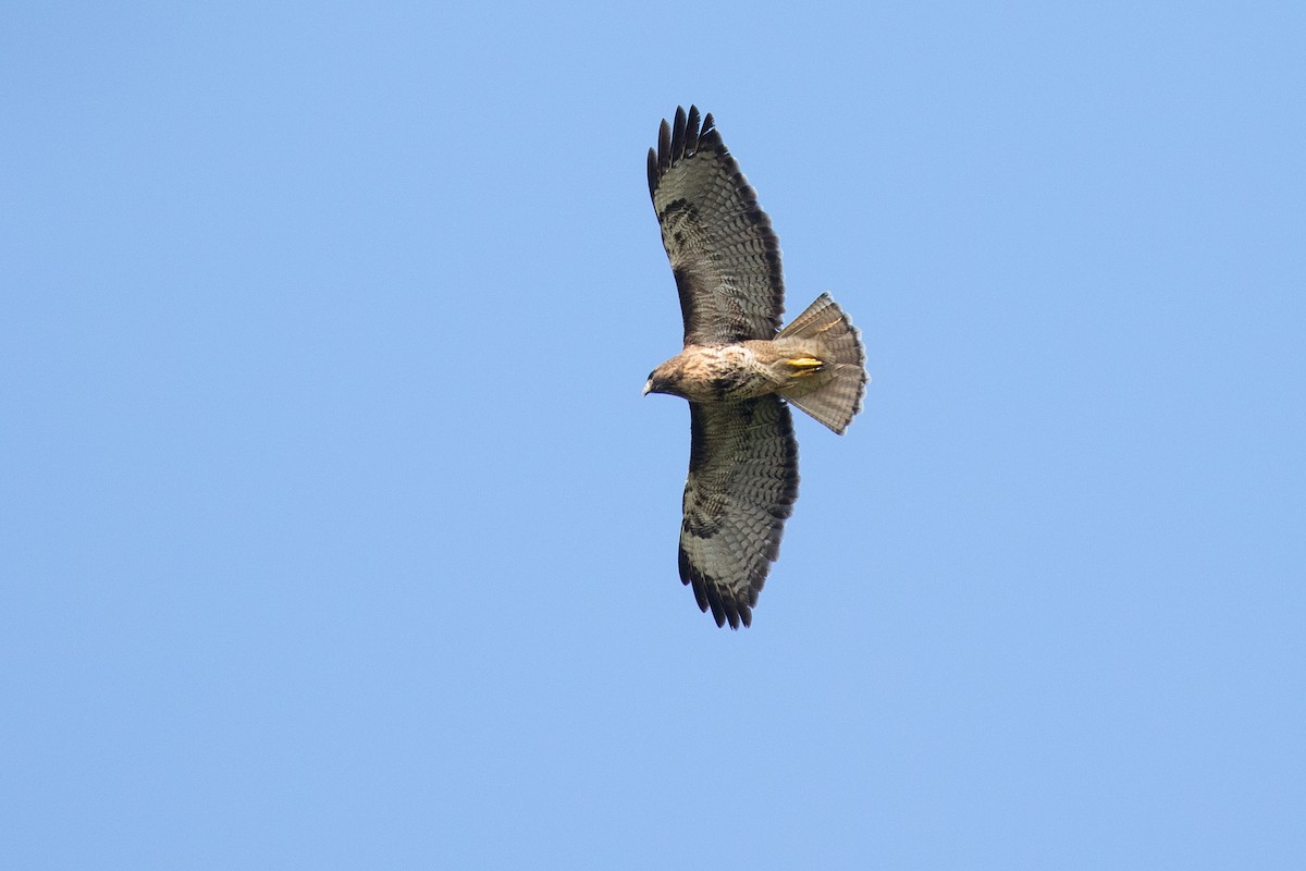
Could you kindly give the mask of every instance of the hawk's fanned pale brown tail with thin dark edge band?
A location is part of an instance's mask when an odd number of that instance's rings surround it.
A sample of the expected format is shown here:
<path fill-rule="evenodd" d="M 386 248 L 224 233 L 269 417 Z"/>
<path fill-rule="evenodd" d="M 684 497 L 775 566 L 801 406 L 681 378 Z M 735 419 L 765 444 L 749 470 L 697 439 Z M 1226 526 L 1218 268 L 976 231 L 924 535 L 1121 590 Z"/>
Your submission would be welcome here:
<path fill-rule="evenodd" d="M 825 363 L 824 368 L 780 392 L 793 405 L 842 435 L 862 410 L 866 392 L 866 349 L 862 334 L 829 294 L 821 294 L 776 341 L 793 340 Z"/>

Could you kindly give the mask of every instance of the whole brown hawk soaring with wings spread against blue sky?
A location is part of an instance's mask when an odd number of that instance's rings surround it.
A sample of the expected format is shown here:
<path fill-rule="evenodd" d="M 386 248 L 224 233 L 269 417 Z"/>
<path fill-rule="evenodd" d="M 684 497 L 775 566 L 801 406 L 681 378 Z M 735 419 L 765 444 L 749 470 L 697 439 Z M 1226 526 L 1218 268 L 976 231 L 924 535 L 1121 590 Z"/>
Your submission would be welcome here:
<path fill-rule="evenodd" d="M 862 407 L 866 353 L 829 294 L 780 328 L 780 240 L 710 114 L 701 127 L 693 106 L 662 120 L 649 195 L 684 317 L 684 350 L 644 385 L 690 401 L 680 581 L 738 629 L 798 498 L 789 405 L 842 434 Z"/>

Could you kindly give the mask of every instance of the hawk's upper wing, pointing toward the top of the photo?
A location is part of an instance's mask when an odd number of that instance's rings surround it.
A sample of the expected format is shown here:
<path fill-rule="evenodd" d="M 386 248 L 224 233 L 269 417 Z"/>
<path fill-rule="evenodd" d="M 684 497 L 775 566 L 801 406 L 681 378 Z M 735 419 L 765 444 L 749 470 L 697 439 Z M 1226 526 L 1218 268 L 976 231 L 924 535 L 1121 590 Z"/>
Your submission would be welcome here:
<path fill-rule="evenodd" d="M 712 115 L 675 110 L 649 149 L 649 193 L 680 294 L 686 345 L 774 338 L 785 311 L 780 239 Z"/>

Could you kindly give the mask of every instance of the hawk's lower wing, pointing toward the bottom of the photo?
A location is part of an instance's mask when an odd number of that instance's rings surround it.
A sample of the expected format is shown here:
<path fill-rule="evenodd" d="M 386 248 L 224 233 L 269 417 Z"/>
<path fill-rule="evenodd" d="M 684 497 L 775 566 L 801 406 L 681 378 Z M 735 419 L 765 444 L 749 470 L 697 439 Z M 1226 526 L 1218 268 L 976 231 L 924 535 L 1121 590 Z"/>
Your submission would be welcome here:
<path fill-rule="evenodd" d="M 690 402 L 690 477 L 680 524 L 680 580 L 717 626 L 752 623 L 798 499 L 798 443 L 789 406 L 768 394 Z"/>

